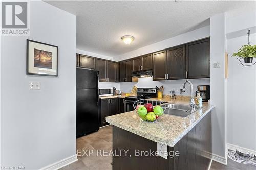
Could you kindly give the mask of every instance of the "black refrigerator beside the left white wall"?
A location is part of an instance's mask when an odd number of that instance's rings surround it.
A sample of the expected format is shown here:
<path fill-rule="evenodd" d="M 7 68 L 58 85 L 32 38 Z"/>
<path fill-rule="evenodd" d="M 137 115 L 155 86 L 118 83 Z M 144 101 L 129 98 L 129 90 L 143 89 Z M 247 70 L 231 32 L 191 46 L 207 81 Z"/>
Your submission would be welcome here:
<path fill-rule="evenodd" d="M 76 137 L 99 130 L 99 71 L 76 69 Z"/>

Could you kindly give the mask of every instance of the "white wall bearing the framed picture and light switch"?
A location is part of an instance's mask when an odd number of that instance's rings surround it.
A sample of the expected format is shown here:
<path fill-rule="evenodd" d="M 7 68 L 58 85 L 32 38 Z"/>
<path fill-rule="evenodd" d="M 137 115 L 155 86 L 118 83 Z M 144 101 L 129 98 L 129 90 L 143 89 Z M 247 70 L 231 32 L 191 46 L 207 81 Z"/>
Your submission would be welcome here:
<path fill-rule="evenodd" d="M 2 167 L 39 169 L 76 154 L 76 16 L 30 5 L 30 36 L 1 37 Z M 26 39 L 59 47 L 58 77 L 26 75 Z"/>

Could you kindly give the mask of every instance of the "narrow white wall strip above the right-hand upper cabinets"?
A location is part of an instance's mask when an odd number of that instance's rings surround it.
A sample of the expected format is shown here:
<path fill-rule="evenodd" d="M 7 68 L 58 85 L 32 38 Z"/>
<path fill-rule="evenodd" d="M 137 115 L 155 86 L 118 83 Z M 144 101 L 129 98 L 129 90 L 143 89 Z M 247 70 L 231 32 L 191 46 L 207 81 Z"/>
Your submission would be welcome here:
<path fill-rule="evenodd" d="M 137 50 L 131 51 L 129 53 L 122 54 L 120 56 L 115 56 L 115 61 L 121 61 L 125 59 L 129 59 L 132 57 L 137 57 L 140 55 L 157 52 L 159 50 L 163 50 L 165 48 L 177 46 L 180 44 L 184 44 L 187 42 L 203 39 L 210 36 L 210 26 L 205 26 L 151 45 L 144 46 Z"/>

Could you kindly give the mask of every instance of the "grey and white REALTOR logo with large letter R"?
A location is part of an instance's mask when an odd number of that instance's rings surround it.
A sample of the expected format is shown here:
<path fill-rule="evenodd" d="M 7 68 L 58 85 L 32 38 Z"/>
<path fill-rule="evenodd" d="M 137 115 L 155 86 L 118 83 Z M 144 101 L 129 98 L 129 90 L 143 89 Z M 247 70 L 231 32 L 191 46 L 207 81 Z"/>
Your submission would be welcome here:
<path fill-rule="evenodd" d="M 28 2 L 2 2 L 1 35 L 29 35 Z"/>

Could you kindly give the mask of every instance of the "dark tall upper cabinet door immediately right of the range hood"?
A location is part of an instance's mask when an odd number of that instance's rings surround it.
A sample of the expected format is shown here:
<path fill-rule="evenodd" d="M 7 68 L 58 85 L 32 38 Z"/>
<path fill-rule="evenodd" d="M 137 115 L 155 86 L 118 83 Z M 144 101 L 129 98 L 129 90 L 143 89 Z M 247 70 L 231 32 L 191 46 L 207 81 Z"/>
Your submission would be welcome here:
<path fill-rule="evenodd" d="M 166 80 L 166 50 L 156 52 L 153 56 L 153 80 Z"/>

